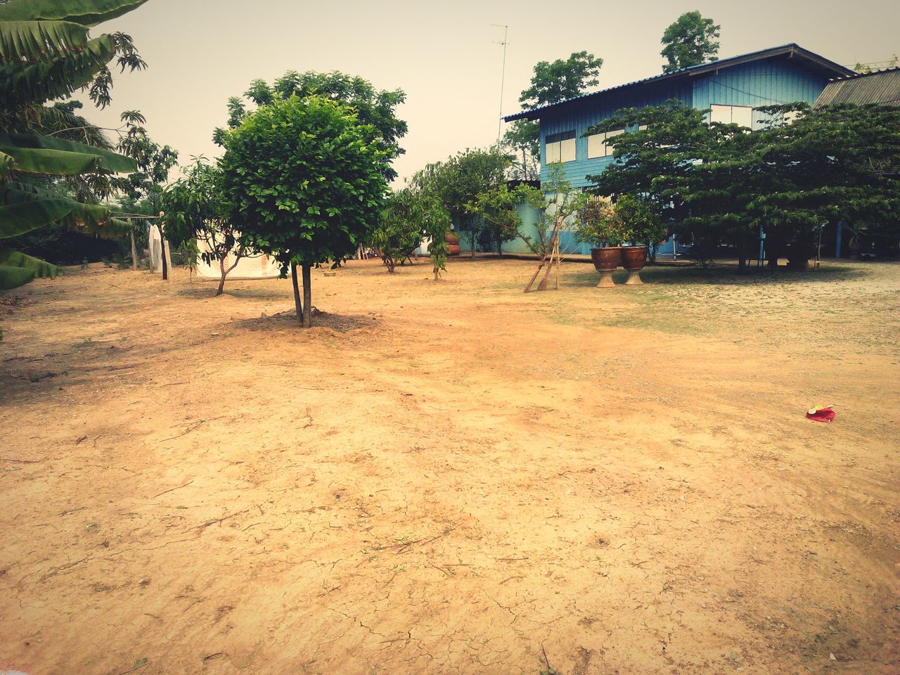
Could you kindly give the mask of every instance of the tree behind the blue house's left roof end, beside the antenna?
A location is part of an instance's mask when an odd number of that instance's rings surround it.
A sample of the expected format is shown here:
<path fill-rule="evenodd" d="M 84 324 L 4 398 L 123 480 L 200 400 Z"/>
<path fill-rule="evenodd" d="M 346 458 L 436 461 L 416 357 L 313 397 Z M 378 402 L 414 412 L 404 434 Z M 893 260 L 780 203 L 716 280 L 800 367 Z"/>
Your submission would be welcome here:
<path fill-rule="evenodd" d="M 519 103 L 525 110 L 542 105 L 559 103 L 581 95 L 599 84 L 603 59 L 587 51 L 572 52 L 569 58 L 555 61 L 538 61 L 531 85 L 522 91 Z M 512 177 L 535 180 L 540 175 L 540 125 L 536 121 L 517 120 L 503 134 L 503 145 L 516 157 L 521 157 L 512 167 Z"/>

